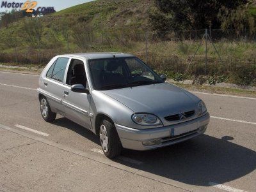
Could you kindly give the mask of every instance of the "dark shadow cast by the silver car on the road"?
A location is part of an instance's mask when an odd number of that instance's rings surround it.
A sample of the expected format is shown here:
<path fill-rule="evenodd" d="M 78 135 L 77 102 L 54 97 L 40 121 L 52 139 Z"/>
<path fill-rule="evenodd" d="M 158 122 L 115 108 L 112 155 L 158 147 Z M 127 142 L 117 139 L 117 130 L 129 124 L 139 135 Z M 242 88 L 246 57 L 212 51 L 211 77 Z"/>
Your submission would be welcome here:
<path fill-rule="evenodd" d="M 54 124 L 75 131 L 84 138 L 99 144 L 91 131 L 69 121 L 56 119 Z M 256 152 L 234 144 L 234 138 L 215 138 L 201 135 L 180 144 L 153 151 L 124 149 L 122 156 L 143 162 L 132 164 L 116 159 L 122 165 L 137 168 L 150 174 L 196 186 L 209 186 L 209 182 L 225 183 L 250 174 L 256 168 Z"/>

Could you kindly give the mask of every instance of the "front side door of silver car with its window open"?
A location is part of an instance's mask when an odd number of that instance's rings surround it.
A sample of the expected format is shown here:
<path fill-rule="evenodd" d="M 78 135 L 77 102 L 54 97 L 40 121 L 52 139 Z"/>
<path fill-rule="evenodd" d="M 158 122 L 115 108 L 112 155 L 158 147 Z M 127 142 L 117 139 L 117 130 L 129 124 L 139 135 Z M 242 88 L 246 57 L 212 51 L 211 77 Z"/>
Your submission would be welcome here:
<path fill-rule="evenodd" d="M 65 96 L 63 106 L 68 119 L 77 122 L 87 129 L 92 129 L 90 114 L 91 95 L 83 92 L 72 92 L 74 84 L 83 84 L 88 89 L 88 82 L 84 62 L 79 59 L 71 59 L 68 66 Z"/>

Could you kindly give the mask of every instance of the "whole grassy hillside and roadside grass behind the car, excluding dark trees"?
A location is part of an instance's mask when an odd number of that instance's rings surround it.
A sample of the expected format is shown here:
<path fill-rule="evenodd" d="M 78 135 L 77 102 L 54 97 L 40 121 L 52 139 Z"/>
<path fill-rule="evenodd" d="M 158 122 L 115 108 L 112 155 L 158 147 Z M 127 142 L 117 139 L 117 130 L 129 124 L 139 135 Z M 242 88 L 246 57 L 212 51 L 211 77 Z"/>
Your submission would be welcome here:
<path fill-rule="evenodd" d="M 152 6 L 154 0 L 98 0 L 42 18 L 22 18 L 0 29 L 0 63 L 43 66 L 57 54 L 128 52 L 177 80 L 184 78 L 182 73 L 205 75 L 205 47 L 198 48 L 204 29 L 171 32 L 167 39 L 159 39 L 149 27 L 148 11 Z M 255 8 L 250 11 L 256 13 Z M 219 82 L 255 85 L 253 34 L 248 31 L 237 36 L 232 30 L 225 33 L 227 38 L 222 37 L 221 30 L 211 32 L 223 62 L 208 44 L 207 75 L 214 80 L 220 77 Z M 197 48 L 196 58 L 187 70 Z"/>

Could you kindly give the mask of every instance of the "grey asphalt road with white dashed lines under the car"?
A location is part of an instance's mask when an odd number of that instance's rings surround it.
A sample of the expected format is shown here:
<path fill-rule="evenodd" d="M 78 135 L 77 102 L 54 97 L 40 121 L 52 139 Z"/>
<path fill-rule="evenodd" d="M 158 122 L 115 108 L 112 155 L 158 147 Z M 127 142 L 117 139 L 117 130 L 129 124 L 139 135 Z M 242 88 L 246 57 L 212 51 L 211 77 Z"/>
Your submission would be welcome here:
<path fill-rule="evenodd" d="M 28 183 L 32 191 L 256 191 L 255 98 L 195 93 L 212 116 L 204 135 L 154 151 L 124 150 L 110 161 L 90 131 L 60 115 L 52 124 L 42 119 L 37 84 L 36 75 L 0 71 L 0 191 L 26 191 Z M 68 170 L 72 163 L 76 170 Z"/>

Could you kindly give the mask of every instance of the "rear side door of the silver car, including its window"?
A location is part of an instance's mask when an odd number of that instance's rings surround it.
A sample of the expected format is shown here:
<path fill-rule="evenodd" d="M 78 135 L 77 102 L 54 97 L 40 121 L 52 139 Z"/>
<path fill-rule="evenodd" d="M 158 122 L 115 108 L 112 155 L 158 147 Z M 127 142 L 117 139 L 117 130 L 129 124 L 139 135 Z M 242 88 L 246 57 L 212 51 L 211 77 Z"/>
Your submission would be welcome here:
<path fill-rule="evenodd" d="M 62 115 L 65 115 L 62 101 L 64 88 L 67 86 L 64 81 L 69 61 L 69 57 L 58 57 L 43 79 L 44 95 L 47 97 L 52 111 Z"/>

